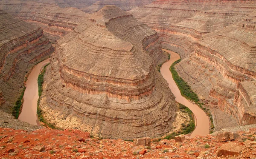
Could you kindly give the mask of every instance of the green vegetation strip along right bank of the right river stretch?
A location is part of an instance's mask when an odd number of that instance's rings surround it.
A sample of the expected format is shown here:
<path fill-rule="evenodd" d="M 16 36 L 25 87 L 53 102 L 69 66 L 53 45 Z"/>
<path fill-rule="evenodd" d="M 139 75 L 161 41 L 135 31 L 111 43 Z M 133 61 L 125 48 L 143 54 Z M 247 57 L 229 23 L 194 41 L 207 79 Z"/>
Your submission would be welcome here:
<path fill-rule="evenodd" d="M 170 67 L 170 71 L 172 73 L 172 78 L 175 81 L 175 83 L 177 84 L 178 88 L 180 89 L 180 94 L 185 97 L 186 99 L 189 99 L 193 102 L 195 102 L 195 104 L 197 104 L 206 114 L 207 116 L 209 116 L 209 119 L 211 121 L 211 131 L 210 133 L 212 133 L 213 129 L 214 129 L 214 125 L 213 125 L 213 119 L 212 119 L 212 114 L 209 112 L 209 109 L 205 108 L 203 105 L 203 102 L 200 102 L 200 99 L 198 98 L 198 95 L 195 94 L 195 92 L 192 91 L 192 89 L 190 88 L 190 86 L 188 85 L 187 82 L 185 82 L 181 77 L 179 77 L 177 71 L 175 70 L 175 65 L 177 63 L 180 62 L 181 59 L 173 62 L 173 64 Z"/>

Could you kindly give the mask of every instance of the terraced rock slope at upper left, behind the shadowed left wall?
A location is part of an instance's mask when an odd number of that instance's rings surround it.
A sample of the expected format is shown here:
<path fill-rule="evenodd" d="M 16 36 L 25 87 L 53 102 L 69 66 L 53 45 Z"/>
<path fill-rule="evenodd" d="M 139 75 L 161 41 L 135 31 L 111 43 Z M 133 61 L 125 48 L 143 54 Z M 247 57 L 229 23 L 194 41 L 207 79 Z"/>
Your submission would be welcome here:
<path fill-rule="evenodd" d="M 29 3 L 29 1 L 0 2 L 0 8 L 28 23 L 40 26 L 52 43 L 72 31 L 81 20 L 88 18 L 87 13 L 76 8 L 61 8 L 55 4 Z"/>

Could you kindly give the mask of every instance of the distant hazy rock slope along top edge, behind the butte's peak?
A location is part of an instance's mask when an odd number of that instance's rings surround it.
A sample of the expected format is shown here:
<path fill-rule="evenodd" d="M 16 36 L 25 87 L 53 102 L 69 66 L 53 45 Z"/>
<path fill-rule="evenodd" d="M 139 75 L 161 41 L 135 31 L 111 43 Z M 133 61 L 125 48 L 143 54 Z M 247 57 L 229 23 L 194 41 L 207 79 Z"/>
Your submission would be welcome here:
<path fill-rule="evenodd" d="M 150 4 L 153 1 L 154 0 L 98 0 L 91 6 L 80 8 L 80 10 L 86 13 L 95 13 L 106 5 L 115 5 L 123 11 L 129 11 L 137 6 Z"/>

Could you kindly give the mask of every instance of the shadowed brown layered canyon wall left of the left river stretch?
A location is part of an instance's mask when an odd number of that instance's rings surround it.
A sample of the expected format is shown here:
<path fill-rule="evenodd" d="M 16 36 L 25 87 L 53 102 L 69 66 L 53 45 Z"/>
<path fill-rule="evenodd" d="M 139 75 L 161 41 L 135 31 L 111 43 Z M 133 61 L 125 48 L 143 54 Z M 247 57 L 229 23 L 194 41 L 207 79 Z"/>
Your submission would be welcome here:
<path fill-rule="evenodd" d="M 0 109 L 11 112 L 27 72 L 53 51 L 41 28 L 0 10 Z"/>

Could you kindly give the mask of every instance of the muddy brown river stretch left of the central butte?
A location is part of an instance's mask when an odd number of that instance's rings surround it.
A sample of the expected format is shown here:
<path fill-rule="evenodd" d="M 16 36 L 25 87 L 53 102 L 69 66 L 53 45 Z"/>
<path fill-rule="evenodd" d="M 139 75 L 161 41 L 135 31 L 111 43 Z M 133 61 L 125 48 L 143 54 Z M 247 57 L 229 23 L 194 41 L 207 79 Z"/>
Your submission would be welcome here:
<path fill-rule="evenodd" d="M 50 59 L 44 60 L 32 69 L 26 81 L 26 90 L 23 96 L 22 111 L 18 119 L 33 125 L 39 125 L 37 121 L 37 101 L 38 101 L 38 75 L 42 68 L 50 62 Z"/>

